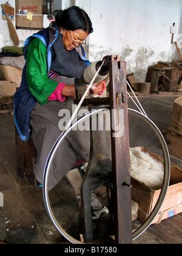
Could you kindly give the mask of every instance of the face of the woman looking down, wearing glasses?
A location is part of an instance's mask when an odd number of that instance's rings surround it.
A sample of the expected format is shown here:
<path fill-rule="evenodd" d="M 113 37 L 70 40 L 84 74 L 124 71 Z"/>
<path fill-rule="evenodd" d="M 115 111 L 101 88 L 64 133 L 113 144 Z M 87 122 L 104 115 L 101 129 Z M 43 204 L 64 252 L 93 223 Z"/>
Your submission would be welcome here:
<path fill-rule="evenodd" d="M 62 35 L 62 43 L 64 49 L 66 49 L 67 51 L 72 51 L 76 48 L 76 46 L 82 44 L 89 35 L 86 31 L 82 29 L 76 29 L 72 31 L 62 29 L 62 27 L 60 28 L 60 33 Z"/>

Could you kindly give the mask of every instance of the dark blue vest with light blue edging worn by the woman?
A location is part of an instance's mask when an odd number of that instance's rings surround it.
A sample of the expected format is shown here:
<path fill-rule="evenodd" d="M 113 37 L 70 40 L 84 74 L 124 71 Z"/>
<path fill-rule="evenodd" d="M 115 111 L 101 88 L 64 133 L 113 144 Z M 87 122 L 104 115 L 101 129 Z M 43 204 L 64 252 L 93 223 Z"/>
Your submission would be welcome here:
<path fill-rule="evenodd" d="M 81 46 L 81 54 L 73 49 L 66 51 L 62 44 L 61 34 L 55 23 L 50 23 L 46 29 L 33 34 L 24 43 L 24 56 L 26 60 L 27 49 L 34 38 L 39 38 L 47 48 L 47 74 L 50 69 L 67 77 L 81 77 L 87 66 L 90 65 L 86 59 L 86 53 Z M 22 80 L 19 90 L 16 91 L 14 102 L 14 119 L 21 140 L 27 141 L 30 137 L 30 115 L 36 104 L 36 98 L 30 93 L 27 85 L 26 63 L 22 72 Z"/>

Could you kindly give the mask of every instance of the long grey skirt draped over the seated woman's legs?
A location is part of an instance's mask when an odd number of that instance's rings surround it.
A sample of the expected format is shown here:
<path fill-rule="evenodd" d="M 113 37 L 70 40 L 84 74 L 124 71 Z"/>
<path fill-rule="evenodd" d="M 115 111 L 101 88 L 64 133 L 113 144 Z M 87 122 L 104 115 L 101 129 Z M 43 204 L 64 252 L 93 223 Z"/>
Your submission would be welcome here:
<path fill-rule="evenodd" d="M 64 102 L 50 101 L 45 105 L 38 102 L 32 110 L 30 124 L 32 126 L 32 139 L 37 151 L 35 177 L 42 183 L 44 167 L 49 152 L 61 134 L 58 113 L 67 109 L 72 115 L 73 99 L 67 98 Z M 55 185 L 73 168 L 78 159 L 89 160 L 90 132 L 87 130 L 74 130 L 64 139 L 56 152 L 49 174 L 49 189 Z"/>

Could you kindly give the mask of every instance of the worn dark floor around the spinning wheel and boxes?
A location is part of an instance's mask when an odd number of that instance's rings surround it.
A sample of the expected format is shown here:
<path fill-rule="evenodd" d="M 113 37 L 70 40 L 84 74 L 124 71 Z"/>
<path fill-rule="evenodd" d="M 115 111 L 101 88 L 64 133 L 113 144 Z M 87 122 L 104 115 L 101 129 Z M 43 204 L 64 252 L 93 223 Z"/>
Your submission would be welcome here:
<path fill-rule="evenodd" d="M 173 103 L 176 98 L 178 98 L 178 94 L 156 98 L 140 98 L 147 115 L 161 132 L 165 133 L 169 125 Z M 130 100 L 129 107 L 135 108 Z M 5 242 L 9 244 L 68 243 L 47 215 L 42 189 L 31 187 L 29 183 L 20 180 L 16 175 L 13 116 L 10 114 L 0 115 L 0 127 L 0 196 L 4 198 L 3 207 L 0 205 L 0 218 L 6 224 Z M 170 160 L 182 167 L 182 160 L 179 158 L 170 155 Z M 64 193 L 69 194 L 69 188 L 65 189 Z M 62 212 L 62 215 L 66 214 L 67 212 Z M 3 224 L 0 222 L 0 230 L 2 227 Z M 160 224 L 152 224 L 133 243 L 181 244 L 182 214 L 165 219 Z"/>

